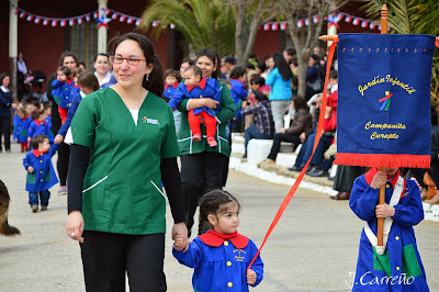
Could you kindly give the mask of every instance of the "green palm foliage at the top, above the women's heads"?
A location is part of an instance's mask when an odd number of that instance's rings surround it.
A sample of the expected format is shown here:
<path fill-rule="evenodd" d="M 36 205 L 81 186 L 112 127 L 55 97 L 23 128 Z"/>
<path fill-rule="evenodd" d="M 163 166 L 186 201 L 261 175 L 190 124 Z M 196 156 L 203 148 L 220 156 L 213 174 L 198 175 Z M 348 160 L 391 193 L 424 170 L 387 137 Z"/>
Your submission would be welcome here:
<path fill-rule="evenodd" d="M 153 20 L 160 21 L 154 27 L 156 36 L 162 25 L 176 24 L 195 53 L 205 47 L 216 49 L 219 56 L 235 52 L 234 14 L 218 0 L 153 0 L 142 18 L 145 30 Z"/>

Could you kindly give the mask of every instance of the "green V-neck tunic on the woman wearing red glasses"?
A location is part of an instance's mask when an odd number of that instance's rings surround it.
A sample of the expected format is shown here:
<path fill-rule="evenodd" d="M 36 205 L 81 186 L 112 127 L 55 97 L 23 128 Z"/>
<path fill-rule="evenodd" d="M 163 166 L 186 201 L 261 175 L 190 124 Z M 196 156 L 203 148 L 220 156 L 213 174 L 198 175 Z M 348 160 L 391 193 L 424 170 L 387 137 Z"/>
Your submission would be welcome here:
<path fill-rule="evenodd" d="M 179 155 L 168 104 L 148 92 L 135 125 L 121 97 L 101 89 L 79 104 L 71 134 L 74 144 L 91 148 L 82 191 L 85 229 L 165 233 L 160 161 Z"/>

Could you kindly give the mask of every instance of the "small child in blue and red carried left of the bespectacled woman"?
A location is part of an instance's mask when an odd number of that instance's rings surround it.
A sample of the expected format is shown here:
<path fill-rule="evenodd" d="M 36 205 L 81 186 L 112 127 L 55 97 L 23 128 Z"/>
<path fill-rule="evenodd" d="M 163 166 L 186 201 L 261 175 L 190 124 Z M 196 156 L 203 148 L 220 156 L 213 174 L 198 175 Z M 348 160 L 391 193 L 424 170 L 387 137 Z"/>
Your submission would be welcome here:
<path fill-rule="evenodd" d="M 58 104 L 59 116 L 61 124 L 66 122 L 67 112 L 71 103 L 71 90 L 75 82 L 71 79 L 71 70 L 68 67 L 60 67 L 56 71 L 56 79 L 52 82 L 52 96 L 56 104 Z"/>

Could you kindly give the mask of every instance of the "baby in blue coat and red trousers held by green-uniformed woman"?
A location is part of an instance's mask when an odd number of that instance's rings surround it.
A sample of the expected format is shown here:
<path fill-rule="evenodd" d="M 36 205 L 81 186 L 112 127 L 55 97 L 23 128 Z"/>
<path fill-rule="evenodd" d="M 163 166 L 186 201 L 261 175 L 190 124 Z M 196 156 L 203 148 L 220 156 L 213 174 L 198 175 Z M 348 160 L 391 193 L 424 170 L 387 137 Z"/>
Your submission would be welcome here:
<path fill-rule="evenodd" d="M 219 86 L 215 79 L 207 79 L 203 77 L 201 69 L 195 65 L 192 65 L 184 71 L 184 83 L 180 83 L 178 86 L 178 90 L 173 93 L 173 97 L 169 101 L 169 106 L 173 111 L 183 99 L 202 98 L 211 98 L 219 102 Z M 207 145 L 210 147 L 217 146 L 215 133 L 216 114 L 218 111 L 219 106 L 217 106 L 215 111 L 207 108 L 198 108 L 188 112 L 188 122 L 192 132 L 192 139 L 194 142 L 200 142 L 202 138 L 200 119 L 203 119 L 206 127 Z"/>

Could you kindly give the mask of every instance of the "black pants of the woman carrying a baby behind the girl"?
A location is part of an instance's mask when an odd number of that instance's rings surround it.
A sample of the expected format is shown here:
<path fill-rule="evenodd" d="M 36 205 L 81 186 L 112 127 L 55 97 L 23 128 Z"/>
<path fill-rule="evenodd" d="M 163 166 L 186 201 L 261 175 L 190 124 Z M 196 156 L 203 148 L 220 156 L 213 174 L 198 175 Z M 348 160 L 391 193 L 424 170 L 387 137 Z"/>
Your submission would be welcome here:
<path fill-rule="evenodd" d="M 215 189 L 222 189 L 225 155 L 218 153 L 200 153 L 182 155 L 181 183 L 184 194 L 185 226 L 193 226 L 199 199 Z"/>

